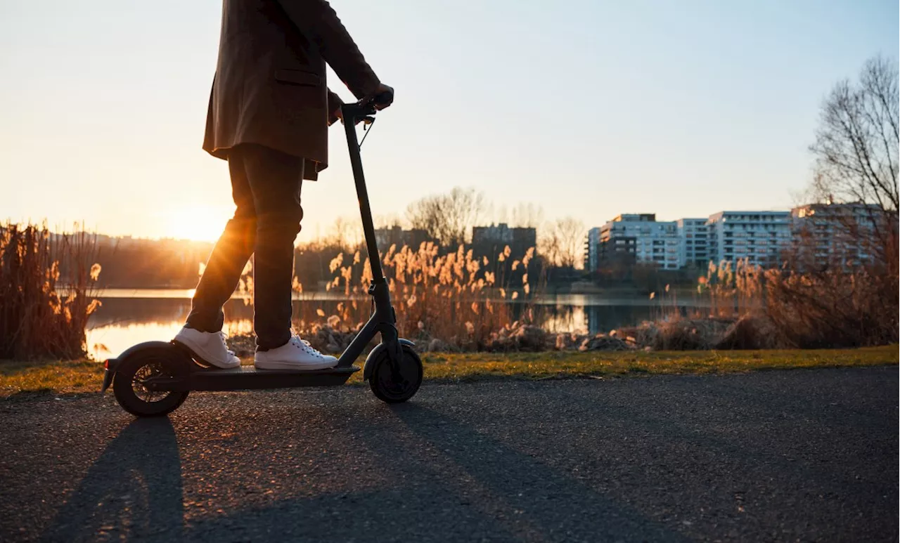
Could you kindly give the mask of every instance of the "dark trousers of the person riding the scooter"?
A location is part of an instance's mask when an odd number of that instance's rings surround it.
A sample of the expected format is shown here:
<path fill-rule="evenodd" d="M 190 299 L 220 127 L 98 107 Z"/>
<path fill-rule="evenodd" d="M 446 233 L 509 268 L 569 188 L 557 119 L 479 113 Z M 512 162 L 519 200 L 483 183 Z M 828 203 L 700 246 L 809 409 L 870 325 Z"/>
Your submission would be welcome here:
<path fill-rule="evenodd" d="M 186 325 L 222 329 L 222 306 L 238 287 L 251 254 L 257 347 L 274 349 L 291 339 L 293 241 L 300 232 L 303 159 L 269 147 L 241 144 L 228 159 L 238 209 L 212 249 L 193 295 Z"/>

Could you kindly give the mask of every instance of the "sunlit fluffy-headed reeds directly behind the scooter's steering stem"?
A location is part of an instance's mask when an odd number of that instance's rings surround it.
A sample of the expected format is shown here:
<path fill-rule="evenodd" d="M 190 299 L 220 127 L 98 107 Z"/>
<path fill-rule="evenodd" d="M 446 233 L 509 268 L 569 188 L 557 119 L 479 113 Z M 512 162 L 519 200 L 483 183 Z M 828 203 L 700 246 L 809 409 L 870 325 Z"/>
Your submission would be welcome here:
<path fill-rule="evenodd" d="M 464 245 L 451 252 L 442 252 L 432 242 L 418 248 L 392 245 L 383 254 L 382 268 L 393 306 L 401 316 L 401 336 L 437 338 L 473 350 L 487 344 L 492 333 L 517 320 L 532 319 L 531 307 L 521 308 L 517 316 L 509 302 L 527 304 L 536 295 L 538 281 L 528 277 L 534 259 L 534 248 L 517 256 L 506 246 L 491 259 L 474 256 Z M 329 271 L 328 296 L 323 297 L 329 303 L 303 301 L 295 315 L 295 325 L 302 332 L 315 331 L 321 325 L 355 330 L 371 313 L 366 290 L 372 273 L 362 252 L 338 254 L 329 263 Z M 303 291 L 299 280 L 294 280 L 293 287 Z"/>

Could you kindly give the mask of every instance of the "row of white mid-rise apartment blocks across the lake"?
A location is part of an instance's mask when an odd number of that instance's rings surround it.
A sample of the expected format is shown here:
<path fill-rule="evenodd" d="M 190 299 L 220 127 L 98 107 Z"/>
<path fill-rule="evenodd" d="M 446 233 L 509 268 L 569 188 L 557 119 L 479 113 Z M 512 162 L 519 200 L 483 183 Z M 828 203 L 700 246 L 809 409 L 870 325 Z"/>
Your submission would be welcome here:
<path fill-rule="evenodd" d="M 797 262 L 853 266 L 875 258 L 884 221 L 869 204 L 810 204 L 790 211 L 720 211 L 708 218 L 657 221 L 653 213 L 622 214 L 588 231 L 585 270 L 612 262 L 656 263 L 664 270 L 703 268 L 710 261 L 778 266 Z"/>

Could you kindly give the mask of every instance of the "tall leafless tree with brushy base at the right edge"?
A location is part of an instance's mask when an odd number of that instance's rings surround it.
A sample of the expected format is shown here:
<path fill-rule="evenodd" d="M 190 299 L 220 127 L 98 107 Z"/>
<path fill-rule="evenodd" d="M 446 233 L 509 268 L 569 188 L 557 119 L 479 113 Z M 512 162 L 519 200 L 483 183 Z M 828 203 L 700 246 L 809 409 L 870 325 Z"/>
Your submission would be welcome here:
<path fill-rule="evenodd" d="M 814 200 L 788 273 L 770 270 L 764 311 L 801 347 L 900 341 L 900 69 L 869 59 L 834 86 L 815 143 Z M 851 205 L 830 205 L 851 204 Z M 836 224 L 835 224 L 836 223 Z M 798 269 L 802 273 L 795 273 Z"/>

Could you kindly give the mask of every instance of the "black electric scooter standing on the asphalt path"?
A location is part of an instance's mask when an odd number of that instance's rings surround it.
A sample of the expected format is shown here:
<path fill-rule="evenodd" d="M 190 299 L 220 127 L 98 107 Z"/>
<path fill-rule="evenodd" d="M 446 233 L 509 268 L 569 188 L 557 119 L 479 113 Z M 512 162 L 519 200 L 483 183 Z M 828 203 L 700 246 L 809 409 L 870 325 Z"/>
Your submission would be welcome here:
<path fill-rule="evenodd" d="M 359 367 L 354 365 L 356 358 L 375 334 L 381 334 L 381 343 L 365 358 L 363 378 L 368 381 L 374 395 L 389 404 L 405 402 L 416 394 L 422 383 L 422 361 L 413 351 L 413 343 L 397 334 L 397 316 L 391 305 L 391 293 L 375 243 L 372 210 L 365 189 L 360 144 L 356 138 L 356 122 L 361 120 L 371 125 L 375 104 L 390 103 L 391 99 L 376 97 L 373 101 L 347 103 L 341 107 L 365 245 L 369 251 L 373 278 L 369 294 L 374 300 L 374 312 L 340 355 L 338 364 L 334 368 L 311 371 L 255 369 L 252 366 L 218 369 L 197 360 L 190 350 L 175 341 L 146 342 L 105 361 L 103 392 L 112 385 L 119 405 L 130 414 L 161 416 L 175 411 L 192 390 L 336 387 L 346 383 L 351 375 L 359 371 Z"/>

